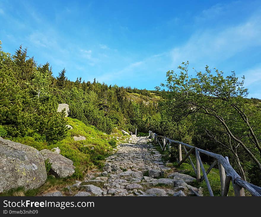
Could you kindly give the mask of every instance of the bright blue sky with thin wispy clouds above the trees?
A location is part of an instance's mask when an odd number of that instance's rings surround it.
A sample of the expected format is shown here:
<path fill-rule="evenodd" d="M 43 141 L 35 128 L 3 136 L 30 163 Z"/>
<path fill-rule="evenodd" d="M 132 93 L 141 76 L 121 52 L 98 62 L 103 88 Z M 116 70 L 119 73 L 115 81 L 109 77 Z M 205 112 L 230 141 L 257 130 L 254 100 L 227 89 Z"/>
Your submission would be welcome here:
<path fill-rule="evenodd" d="M 20 44 L 53 75 L 154 89 L 168 70 L 190 61 L 245 75 L 261 98 L 260 1 L 5 1 L 0 40 Z"/>

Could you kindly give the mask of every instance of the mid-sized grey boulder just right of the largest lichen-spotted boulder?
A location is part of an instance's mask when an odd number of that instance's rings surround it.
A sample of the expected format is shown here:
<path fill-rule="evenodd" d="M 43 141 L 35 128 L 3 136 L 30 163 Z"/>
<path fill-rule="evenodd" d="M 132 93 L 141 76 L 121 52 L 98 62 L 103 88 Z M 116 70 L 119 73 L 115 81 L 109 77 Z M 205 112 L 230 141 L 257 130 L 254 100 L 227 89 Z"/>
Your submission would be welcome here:
<path fill-rule="evenodd" d="M 52 163 L 50 172 L 56 177 L 64 178 L 74 174 L 75 166 L 73 166 L 73 161 L 70 159 L 47 149 L 43 149 L 40 152 L 43 155 L 44 160 L 49 159 L 49 163 Z"/>

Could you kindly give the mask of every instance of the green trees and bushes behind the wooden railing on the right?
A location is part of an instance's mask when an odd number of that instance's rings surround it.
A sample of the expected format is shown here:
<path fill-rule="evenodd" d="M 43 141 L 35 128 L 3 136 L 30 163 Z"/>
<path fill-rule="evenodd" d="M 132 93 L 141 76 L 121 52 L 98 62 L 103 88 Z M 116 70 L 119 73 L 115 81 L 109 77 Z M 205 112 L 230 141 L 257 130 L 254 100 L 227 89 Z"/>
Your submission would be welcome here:
<path fill-rule="evenodd" d="M 162 91 L 161 115 L 154 118 L 156 132 L 228 156 L 244 180 L 260 185 L 261 103 L 246 98 L 244 76 L 239 81 L 235 72 L 225 77 L 206 66 L 192 77 L 188 65 L 183 62 L 179 74 L 168 71 L 161 84 L 168 91 Z M 165 119 L 174 122 L 171 131 Z M 211 163 L 206 156 L 202 160 Z"/>

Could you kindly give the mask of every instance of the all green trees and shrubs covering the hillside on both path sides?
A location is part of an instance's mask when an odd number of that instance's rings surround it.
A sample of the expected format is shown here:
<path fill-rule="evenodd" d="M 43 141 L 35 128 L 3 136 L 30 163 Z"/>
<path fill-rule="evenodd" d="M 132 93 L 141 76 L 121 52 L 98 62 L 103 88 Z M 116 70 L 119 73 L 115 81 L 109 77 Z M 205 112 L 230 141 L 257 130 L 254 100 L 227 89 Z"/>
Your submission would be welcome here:
<path fill-rule="evenodd" d="M 247 98 L 244 77 L 235 72 L 224 76 L 206 66 L 192 77 L 188 66 L 183 62 L 166 73 L 165 83 L 156 90 L 146 90 L 95 78 L 70 81 L 62 66 L 55 77 L 48 62 L 36 64 L 27 56 L 27 48 L 20 46 L 9 54 L 0 47 L 0 136 L 39 150 L 59 145 L 61 153 L 76 162 L 74 177 L 81 177 L 89 164 L 99 164 L 107 156 L 115 141 L 98 141 L 104 146 L 94 150 L 73 146 L 66 140 L 66 124 L 86 125 L 90 133 L 104 136 L 117 129 L 137 128 L 138 135 L 152 130 L 228 156 L 244 180 L 260 186 L 261 100 Z M 59 103 L 69 105 L 69 118 L 57 112 Z M 172 161 L 176 151 L 169 150 Z M 207 157 L 202 160 L 211 163 Z"/>

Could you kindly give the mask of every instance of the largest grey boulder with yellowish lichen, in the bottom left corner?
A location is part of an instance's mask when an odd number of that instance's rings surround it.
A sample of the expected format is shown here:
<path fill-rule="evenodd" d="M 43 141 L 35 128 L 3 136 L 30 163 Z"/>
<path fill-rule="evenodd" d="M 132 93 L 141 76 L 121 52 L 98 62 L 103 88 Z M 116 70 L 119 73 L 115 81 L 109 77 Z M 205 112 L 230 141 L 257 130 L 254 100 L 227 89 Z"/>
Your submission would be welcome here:
<path fill-rule="evenodd" d="M 44 158 L 35 148 L 0 137 L 0 192 L 39 188 L 47 179 Z"/>

